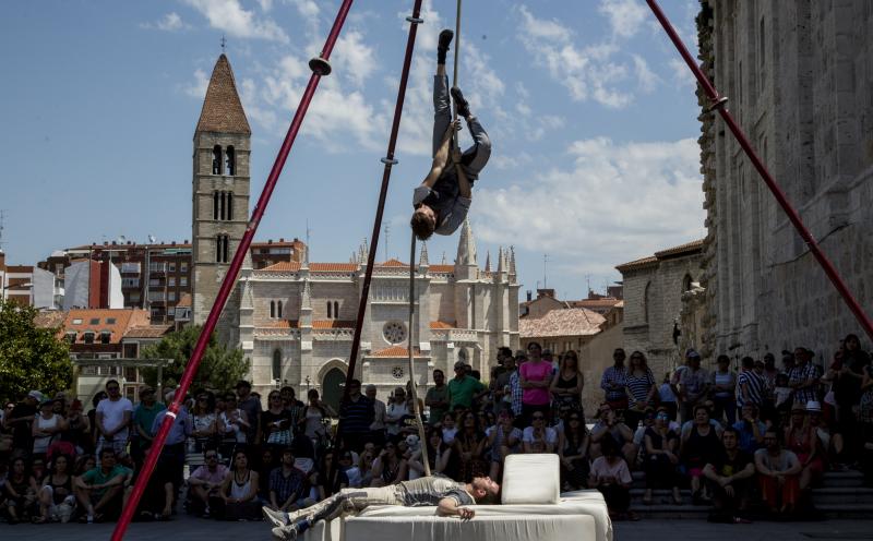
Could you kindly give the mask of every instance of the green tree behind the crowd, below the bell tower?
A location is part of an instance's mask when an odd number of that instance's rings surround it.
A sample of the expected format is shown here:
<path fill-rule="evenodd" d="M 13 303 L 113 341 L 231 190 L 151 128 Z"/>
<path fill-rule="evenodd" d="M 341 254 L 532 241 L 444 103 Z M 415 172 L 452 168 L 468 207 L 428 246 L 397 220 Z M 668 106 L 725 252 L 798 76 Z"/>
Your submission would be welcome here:
<path fill-rule="evenodd" d="M 164 366 L 165 386 L 174 386 L 182 378 L 188 360 L 194 351 L 202 327 L 188 325 L 181 330 L 168 334 L 159 342 L 143 349 L 143 359 L 174 359 L 174 363 Z M 248 372 L 248 363 L 242 359 L 242 350 L 228 348 L 218 344 L 215 334 L 210 337 L 210 345 L 203 353 L 192 388 L 206 387 L 214 389 L 231 388 Z M 157 369 L 143 369 L 143 378 L 150 385 L 157 385 Z"/>

